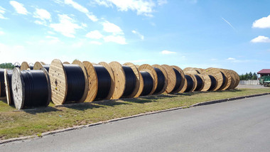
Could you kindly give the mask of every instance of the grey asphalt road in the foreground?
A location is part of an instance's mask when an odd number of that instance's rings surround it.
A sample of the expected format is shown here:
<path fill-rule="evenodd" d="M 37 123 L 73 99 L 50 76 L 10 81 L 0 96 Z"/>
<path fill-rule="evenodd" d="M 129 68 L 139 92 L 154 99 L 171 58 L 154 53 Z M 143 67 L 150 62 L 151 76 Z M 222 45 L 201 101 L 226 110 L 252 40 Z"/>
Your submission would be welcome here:
<path fill-rule="evenodd" d="M 270 151 L 270 95 L 5 143 L 0 151 Z"/>

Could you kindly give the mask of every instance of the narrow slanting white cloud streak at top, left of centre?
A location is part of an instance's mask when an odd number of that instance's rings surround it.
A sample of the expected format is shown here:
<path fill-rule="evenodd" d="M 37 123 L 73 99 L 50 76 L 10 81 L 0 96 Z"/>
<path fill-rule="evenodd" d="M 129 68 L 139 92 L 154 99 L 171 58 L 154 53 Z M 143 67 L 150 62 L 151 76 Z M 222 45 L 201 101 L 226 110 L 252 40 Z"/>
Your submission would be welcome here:
<path fill-rule="evenodd" d="M 88 11 L 88 9 L 86 9 L 85 6 L 82 6 L 82 5 L 80 5 L 77 2 L 72 1 L 72 0 L 65 0 L 65 4 L 71 5 L 74 9 L 77 9 L 77 11 L 85 13 L 85 15 L 88 18 L 90 18 L 90 20 L 98 21 L 97 16 L 95 16 L 92 12 Z"/>

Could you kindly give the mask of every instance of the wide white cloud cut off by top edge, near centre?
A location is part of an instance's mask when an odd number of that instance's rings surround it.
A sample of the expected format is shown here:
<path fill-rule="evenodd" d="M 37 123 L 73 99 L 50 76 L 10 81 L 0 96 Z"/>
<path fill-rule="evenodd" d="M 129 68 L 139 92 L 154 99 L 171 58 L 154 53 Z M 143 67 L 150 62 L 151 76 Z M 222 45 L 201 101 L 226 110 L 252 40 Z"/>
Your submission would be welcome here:
<path fill-rule="evenodd" d="M 112 7 L 117 6 L 119 11 L 136 11 L 138 15 L 153 16 L 153 7 L 156 6 L 151 0 L 95 0 L 97 4 Z"/>

